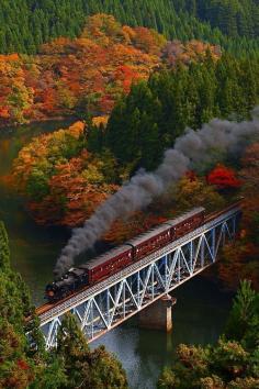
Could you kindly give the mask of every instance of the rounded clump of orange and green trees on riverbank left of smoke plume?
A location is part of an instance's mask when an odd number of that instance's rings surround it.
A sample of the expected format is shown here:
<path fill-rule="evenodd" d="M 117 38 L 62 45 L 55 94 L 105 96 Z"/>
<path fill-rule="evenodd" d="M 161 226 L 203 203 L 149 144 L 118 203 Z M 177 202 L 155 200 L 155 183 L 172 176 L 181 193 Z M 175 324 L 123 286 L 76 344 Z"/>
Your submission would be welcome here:
<path fill-rule="evenodd" d="M 104 162 L 82 148 L 82 122 L 44 134 L 23 147 L 13 182 L 40 224 L 82 223 L 117 186 L 105 184 Z"/>

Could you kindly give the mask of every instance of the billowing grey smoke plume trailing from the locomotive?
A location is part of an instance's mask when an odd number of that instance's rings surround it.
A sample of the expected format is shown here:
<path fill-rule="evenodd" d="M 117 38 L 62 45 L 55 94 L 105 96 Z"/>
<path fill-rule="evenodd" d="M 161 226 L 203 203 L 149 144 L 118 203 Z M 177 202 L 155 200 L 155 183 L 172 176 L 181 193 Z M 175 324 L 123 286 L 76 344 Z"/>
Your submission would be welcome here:
<path fill-rule="evenodd" d="M 259 108 L 254 111 L 249 122 L 236 123 L 214 119 L 199 131 L 187 129 L 185 133 L 177 138 L 174 147 L 166 151 L 164 162 L 157 170 L 137 173 L 102 203 L 82 227 L 72 231 L 71 238 L 57 260 L 55 276 L 59 277 L 68 270 L 75 257 L 91 248 L 116 219 L 147 207 L 188 169 L 212 162 L 215 158 L 213 149 L 223 154 L 235 152 L 246 144 L 247 138 L 259 134 L 258 112 Z"/>

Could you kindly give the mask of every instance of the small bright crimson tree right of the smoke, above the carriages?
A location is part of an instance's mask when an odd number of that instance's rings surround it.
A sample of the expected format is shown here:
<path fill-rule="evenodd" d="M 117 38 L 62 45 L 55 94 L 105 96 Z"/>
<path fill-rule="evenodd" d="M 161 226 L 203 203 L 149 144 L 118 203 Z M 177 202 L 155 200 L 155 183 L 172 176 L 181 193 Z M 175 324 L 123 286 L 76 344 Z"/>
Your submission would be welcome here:
<path fill-rule="evenodd" d="M 209 175 L 207 182 L 217 189 L 239 188 L 241 182 L 236 177 L 235 170 L 224 165 L 217 165 Z"/>

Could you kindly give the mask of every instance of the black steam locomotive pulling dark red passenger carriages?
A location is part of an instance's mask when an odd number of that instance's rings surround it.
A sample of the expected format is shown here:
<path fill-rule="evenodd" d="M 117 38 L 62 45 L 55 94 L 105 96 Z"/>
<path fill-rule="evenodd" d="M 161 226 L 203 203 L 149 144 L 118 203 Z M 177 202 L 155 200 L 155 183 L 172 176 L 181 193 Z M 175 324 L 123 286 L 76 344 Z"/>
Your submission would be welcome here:
<path fill-rule="evenodd" d="M 70 268 L 60 279 L 46 286 L 45 299 L 49 303 L 55 303 L 86 287 L 91 287 L 198 229 L 206 221 L 240 207 L 240 201 L 209 215 L 203 207 L 194 208 L 99 257 L 92 258 L 87 264 Z"/>

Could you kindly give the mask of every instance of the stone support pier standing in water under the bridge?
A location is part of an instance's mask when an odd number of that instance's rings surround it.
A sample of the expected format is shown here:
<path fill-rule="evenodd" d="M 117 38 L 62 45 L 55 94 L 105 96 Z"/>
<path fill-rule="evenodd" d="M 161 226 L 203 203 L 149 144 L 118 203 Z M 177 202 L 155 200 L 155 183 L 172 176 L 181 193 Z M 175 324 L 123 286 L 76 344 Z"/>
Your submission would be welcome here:
<path fill-rule="evenodd" d="M 176 302 L 177 300 L 171 296 L 162 296 L 138 313 L 138 325 L 142 329 L 170 332 L 172 330 L 172 305 Z"/>

